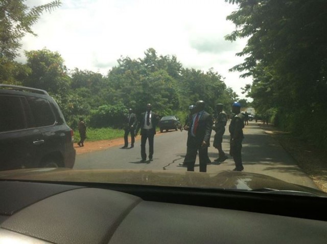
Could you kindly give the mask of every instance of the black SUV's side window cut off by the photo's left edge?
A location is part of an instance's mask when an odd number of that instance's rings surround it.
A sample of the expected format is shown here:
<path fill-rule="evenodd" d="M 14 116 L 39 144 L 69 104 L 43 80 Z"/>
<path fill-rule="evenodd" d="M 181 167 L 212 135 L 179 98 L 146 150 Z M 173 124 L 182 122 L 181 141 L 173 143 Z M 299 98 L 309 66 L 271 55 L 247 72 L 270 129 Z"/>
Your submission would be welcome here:
<path fill-rule="evenodd" d="M 21 98 L 0 95 L 0 132 L 26 128 Z"/>

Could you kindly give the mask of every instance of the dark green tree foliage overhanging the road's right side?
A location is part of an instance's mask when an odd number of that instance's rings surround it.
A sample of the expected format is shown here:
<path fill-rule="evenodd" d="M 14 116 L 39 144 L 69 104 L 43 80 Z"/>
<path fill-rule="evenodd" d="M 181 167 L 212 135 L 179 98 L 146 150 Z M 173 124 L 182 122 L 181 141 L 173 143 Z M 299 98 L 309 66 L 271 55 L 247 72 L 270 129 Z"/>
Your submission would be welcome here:
<path fill-rule="evenodd" d="M 239 6 L 227 17 L 236 30 L 226 39 L 249 38 L 238 54 L 246 56 L 245 61 L 232 70 L 252 75 L 253 83 L 246 89 L 255 109 L 261 114 L 276 109 L 273 119 L 278 126 L 326 147 L 327 131 L 321 130 L 321 121 L 327 121 L 325 1 L 226 2 Z"/>

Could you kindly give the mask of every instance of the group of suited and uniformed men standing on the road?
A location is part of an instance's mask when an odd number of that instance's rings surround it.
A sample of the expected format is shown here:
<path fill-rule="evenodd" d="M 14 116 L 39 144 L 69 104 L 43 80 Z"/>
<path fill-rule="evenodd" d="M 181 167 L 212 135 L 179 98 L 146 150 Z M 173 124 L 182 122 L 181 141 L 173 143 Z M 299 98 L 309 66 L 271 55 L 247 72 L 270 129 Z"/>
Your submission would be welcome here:
<path fill-rule="evenodd" d="M 126 116 L 126 126 L 124 141 L 125 145 L 122 148 L 128 147 L 128 135 L 131 134 L 131 148 L 134 147 L 135 137 L 141 129 L 141 162 L 146 162 L 146 142 L 149 141 L 149 160 L 153 161 L 153 140 L 156 134 L 156 125 L 158 124 L 158 115 L 152 112 L 151 104 L 147 104 L 147 110 L 141 115 L 141 121 L 137 123 L 136 115 L 129 109 L 129 114 Z M 216 132 L 214 139 L 214 147 L 218 149 L 219 158 L 215 160 L 221 163 L 227 159 L 225 152 L 222 149 L 222 140 L 227 123 L 227 115 L 223 111 L 223 104 L 216 105 L 217 114 L 212 117 L 205 110 L 205 103 L 202 100 L 196 102 L 195 105 L 189 107 L 190 114 L 185 120 L 183 129 L 188 130 L 187 149 L 183 166 L 187 167 L 188 171 L 194 171 L 197 153 L 199 153 L 200 172 L 206 172 L 208 163 L 211 163 L 208 158 L 208 147 L 210 146 L 210 138 L 212 130 Z M 234 116 L 229 124 L 230 133 L 230 156 L 235 162 L 234 171 L 242 171 L 244 169 L 242 164 L 242 140 L 244 117 L 241 113 L 241 104 L 233 103 L 232 113 Z M 135 128 L 136 127 L 136 128 Z"/>

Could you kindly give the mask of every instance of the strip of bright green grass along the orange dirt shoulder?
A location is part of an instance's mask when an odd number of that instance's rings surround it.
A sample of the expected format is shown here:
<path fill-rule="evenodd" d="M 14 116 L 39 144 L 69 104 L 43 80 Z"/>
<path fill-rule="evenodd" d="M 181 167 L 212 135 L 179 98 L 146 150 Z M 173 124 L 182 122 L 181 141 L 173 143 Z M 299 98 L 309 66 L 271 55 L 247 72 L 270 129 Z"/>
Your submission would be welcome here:
<path fill-rule="evenodd" d="M 111 139 L 122 138 L 122 137 L 124 137 L 123 129 L 87 128 L 85 141 L 111 140 Z M 80 140 L 80 134 L 78 130 L 74 130 L 74 142 L 78 142 L 79 140 Z"/>

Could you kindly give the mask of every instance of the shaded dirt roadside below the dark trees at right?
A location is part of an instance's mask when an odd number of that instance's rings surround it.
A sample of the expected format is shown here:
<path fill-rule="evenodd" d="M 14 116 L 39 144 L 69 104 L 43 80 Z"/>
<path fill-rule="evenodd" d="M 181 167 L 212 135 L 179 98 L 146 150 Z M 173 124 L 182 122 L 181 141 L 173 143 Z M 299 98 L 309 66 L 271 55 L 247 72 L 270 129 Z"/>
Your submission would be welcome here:
<path fill-rule="evenodd" d="M 258 125 L 282 145 L 322 191 L 327 192 L 327 155 L 323 150 L 271 125 Z"/>

